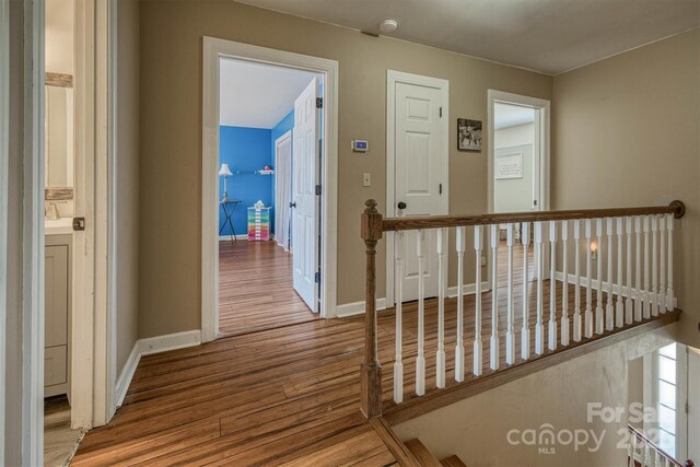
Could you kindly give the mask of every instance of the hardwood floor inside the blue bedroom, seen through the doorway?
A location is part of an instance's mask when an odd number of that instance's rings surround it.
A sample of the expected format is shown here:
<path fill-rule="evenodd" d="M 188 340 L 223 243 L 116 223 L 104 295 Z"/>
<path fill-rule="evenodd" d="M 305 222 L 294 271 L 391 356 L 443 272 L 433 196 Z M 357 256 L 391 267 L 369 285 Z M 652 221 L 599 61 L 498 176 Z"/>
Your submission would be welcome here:
<path fill-rule="evenodd" d="M 317 319 L 292 285 L 292 255 L 275 242 L 219 242 L 219 335 Z"/>

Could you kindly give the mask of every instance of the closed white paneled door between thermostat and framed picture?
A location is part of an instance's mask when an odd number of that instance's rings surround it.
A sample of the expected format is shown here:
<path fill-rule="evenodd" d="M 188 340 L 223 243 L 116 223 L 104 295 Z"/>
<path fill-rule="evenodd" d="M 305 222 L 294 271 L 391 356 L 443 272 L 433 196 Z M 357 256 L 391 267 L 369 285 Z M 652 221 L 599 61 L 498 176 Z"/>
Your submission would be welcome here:
<path fill-rule="evenodd" d="M 436 85 L 397 81 L 395 90 L 395 217 L 446 214 L 443 132 L 444 90 Z M 446 196 L 446 194 L 444 195 Z M 438 295 L 436 231 L 424 231 L 421 238 L 425 297 Z M 418 233 L 404 237 L 402 299 L 418 299 Z"/>

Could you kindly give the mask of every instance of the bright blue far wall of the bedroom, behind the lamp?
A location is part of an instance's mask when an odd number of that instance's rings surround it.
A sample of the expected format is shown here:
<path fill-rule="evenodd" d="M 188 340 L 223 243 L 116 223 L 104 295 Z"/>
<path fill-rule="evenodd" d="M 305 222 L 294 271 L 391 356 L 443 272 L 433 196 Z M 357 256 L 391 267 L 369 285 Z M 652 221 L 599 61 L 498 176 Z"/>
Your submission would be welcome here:
<path fill-rule="evenodd" d="M 258 199 L 266 206 L 272 206 L 271 194 L 273 180 L 270 175 L 253 174 L 266 165 L 272 165 L 270 152 L 272 130 L 261 128 L 225 127 L 219 129 L 219 166 L 229 164 L 234 175 L 228 177 L 229 199 L 238 199 L 238 205 L 232 217 L 237 235 L 247 234 L 247 208 Z M 245 172 L 235 175 L 237 171 Z M 223 180 L 219 185 L 219 199 L 223 198 Z M 228 207 L 231 209 L 231 206 Z M 270 215 L 272 211 L 270 210 Z M 222 208 L 219 208 L 219 229 L 225 221 Z M 231 227 L 226 227 L 221 235 L 230 235 Z"/>

